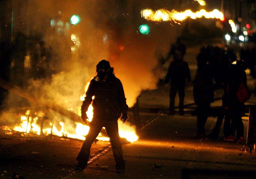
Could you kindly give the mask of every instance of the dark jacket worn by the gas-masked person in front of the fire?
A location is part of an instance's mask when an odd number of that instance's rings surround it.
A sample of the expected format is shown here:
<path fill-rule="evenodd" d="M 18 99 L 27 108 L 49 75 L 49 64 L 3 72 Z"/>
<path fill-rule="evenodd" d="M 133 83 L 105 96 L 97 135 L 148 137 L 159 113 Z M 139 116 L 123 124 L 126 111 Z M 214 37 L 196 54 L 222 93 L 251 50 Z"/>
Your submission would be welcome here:
<path fill-rule="evenodd" d="M 92 101 L 93 96 L 94 99 Z M 123 85 L 114 74 L 110 74 L 106 82 L 91 80 L 81 106 L 81 113 L 85 113 L 88 110 L 91 102 L 93 118 L 117 120 L 121 114 L 127 114 L 128 106 L 124 96 Z"/>

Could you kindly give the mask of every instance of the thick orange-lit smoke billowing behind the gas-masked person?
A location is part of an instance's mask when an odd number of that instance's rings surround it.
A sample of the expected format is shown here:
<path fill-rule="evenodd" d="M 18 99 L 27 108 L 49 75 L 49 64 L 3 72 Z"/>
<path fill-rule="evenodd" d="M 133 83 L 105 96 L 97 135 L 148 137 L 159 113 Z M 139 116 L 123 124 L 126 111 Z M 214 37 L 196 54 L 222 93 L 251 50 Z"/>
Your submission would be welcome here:
<path fill-rule="evenodd" d="M 80 106 L 84 86 L 94 76 L 95 66 L 101 59 L 110 61 L 116 76 L 123 82 L 129 107 L 142 90 L 156 88 L 158 76 L 152 73 L 157 64 L 154 44 L 149 38 L 141 38 L 132 22 L 123 17 L 126 4 L 56 2 L 28 1 L 27 4 L 28 16 L 33 14 L 27 31 L 42 34 L 46 47 L 52 48 L 54 59 L 59 62 L 54 66 L 59 72 L 52 75 L 51 82 L 31 80 L 30 89 L 41 94 L 42 101 L 66 108 Z M 50 26 L 51 19 L 62 20 L 65 24 L 73 14 L 81 18 L 76 26 L 60 32 Z M 79 47 L 71 41 L 71 34 L 79 38 Z M 75 46 L 76 51 L 68 56 L 71 46 Z"/>

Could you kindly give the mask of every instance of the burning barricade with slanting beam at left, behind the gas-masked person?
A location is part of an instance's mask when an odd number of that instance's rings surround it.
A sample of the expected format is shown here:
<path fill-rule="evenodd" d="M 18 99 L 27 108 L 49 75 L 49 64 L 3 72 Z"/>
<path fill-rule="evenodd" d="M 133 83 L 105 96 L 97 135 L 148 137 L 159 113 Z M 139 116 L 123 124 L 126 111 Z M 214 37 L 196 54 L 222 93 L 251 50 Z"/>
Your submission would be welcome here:
<path fill-rule="evenodd" d="M 11 126 L 2 127 L 2 129 L 8 130 L 6 134 L 13 134 L 16 131 L 21 132 L 22 135 L 54 135 L 79 140 L 86 139 L 90 127 L 82 124 L 78 115 L 80 107 L 76 107 L 77 110 L 74 110 L 74 108 L 65 109 L 55 104 L 44 104 L 38 100 L 39 98 L 35 100 L 24 89 L 13 86 L 2 79 L 0 79 L 0 86 L 38 106 L 20 110 L 16 114 L 16 118 L 17 115 L 20 118 L 19 121 L 16 120 L 16 123 Z M 90 118 L 88 122 L 92 121 L 92 110 L 92 106 L 90 106 L 87 111 L 88 117 Z M 122 122 L 118 121 L 119 136 L 130 142 L 137 141 L 138 136 L 135 133 L 135 128 L 128 124 L 121 124 Z M 103 141 L 109 140 L 104 128 L 97 139 Z"/>

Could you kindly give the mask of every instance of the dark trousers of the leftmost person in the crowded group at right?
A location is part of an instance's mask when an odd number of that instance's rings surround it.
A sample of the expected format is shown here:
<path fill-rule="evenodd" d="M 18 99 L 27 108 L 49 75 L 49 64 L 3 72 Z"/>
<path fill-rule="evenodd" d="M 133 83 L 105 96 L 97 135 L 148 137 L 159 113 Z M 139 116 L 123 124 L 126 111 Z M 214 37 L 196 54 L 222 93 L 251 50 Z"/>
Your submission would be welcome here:
<path fill-rule="evenodd" d="M 210 103 L 200 103 L 196 107 L 196 127 L 197 134 L 205 134 L 204 125 L 210 113 Z"/>

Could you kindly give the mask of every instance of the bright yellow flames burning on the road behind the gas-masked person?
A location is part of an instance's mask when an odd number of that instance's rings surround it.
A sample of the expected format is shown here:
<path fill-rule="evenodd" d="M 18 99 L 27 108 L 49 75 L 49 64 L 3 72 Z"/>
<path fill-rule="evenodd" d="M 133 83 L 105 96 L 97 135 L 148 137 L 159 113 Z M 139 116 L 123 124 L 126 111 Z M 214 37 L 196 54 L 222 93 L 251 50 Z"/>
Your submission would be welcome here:
<path fill-rule="evenodd" d="M 42 113 L 42 112 L 41 112 Z M 88 111 L 87 113 L 92 113 Z M 90 115 L 92 116 L 92 114 Z M 66 120 L 67 121 L 67 120 Z M 13 126 L 3 126 L 2 129 L 8 130 L 6 134 L 13 134 L 14 131 L 22 132 L 24 134 L 36 134 L 36 135 L 55 135 L 61 137 L 68 137 L 80 140 L 86 140 L 86 135 L 90 129 L 89 126 L 79 122 L 74 122 L 74 125 L 69 122 L 53 121 L 46 117 L 39 117 L 32 115 L 30 110 L 27 110 L 24 115 L 20 116 L 20 123 Z M 128 124 L 123 124 L 118 121 L 119 136 L 126 138 L 130 142 L 138 140 L 138 136 L 135 133 L 135 128 Z M 109 141 L 109 138 L 100 133 L 97 137 L 98 140 Z"/>

